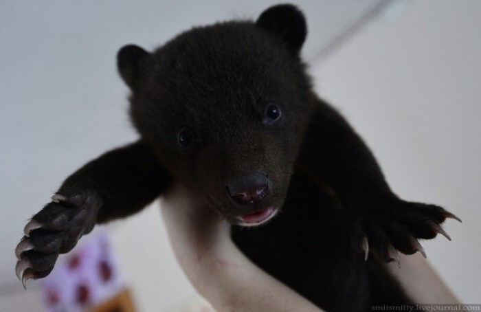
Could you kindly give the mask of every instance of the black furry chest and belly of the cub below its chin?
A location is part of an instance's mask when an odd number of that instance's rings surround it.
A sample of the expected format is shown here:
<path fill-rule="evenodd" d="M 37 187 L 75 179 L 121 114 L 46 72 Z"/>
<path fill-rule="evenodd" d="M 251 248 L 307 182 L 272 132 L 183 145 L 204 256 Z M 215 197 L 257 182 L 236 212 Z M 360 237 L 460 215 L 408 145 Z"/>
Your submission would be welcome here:
<path fill-rule="evenodd" d="M 312 179 L 293 175 L 278 216 L 259 227 L 234 227 L 232 237 L 254 263 L 318 306 L 367 308 L 369 264 L 350 247 L 339 203 Z"/>

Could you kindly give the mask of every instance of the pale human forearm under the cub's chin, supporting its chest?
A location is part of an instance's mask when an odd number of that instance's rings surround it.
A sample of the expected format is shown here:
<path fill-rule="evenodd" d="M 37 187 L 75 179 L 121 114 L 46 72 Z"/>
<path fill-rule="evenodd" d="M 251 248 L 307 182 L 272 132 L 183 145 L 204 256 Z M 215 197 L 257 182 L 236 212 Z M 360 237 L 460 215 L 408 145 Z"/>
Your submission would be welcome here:
<path fill-rule="evenodd" d="M 320 311 L 251 263 L 230 240 L 230 227 L 179 186 L 161 199 L 179 264 L 217 311 Z"/>

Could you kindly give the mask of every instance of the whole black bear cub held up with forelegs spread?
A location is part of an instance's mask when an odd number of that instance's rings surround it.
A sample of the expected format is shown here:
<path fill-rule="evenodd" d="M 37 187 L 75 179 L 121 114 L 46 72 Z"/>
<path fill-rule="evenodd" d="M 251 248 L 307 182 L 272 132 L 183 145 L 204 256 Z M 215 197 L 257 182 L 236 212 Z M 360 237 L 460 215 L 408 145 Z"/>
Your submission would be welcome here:
<path fill-rule="evenodd" d="M 23 283 L 176 179 L 234 225 L 251 260 L 317 306 L 410 302 L 382 262 L 399 262 L 396 250 L 424 254 L 418 238 L 447 236 L 440 223 L 456 216 L 390 190 L 367 146 L 313 92 L 305 38 L 303 14 L 285 4 L 255 22 L 194 27 L 151 53 L 122 47 L 140 138 L 74 172 L 27 223 L 16 248 Z"/>

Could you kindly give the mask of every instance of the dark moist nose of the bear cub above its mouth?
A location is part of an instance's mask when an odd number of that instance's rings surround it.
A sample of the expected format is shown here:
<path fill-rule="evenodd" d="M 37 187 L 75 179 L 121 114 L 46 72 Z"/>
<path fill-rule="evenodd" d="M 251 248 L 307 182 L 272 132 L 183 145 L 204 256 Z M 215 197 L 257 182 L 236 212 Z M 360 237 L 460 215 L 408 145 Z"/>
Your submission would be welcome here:
<path fill-rule="evenodd" d="M 239 203 L 253 203 L 266 197 L 269 190 L 269 177 L 260 172 L 252 172 L 232 179 L 227 186 L 230 196 Z"/>

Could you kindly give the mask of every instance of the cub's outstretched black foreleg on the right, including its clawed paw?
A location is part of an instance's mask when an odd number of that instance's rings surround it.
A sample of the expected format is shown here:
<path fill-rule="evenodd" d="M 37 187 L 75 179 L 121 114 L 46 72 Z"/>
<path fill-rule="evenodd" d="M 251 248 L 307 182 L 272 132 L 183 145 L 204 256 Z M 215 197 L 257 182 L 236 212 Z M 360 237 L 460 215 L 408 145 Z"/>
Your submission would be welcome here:
<path fill-rule="evenodd" d="M 451 239 L 440 224 L 446 218 L 460 221 L 437 205 L 399 199 L 359 135 L 321 101 L 306 132 L 297 168 L 315 175 L 313 179 L 328 184 L 339 197 L 353 226 L 355 247 L 366 260 L 372 253 L 399 263 L 396 249 L 425 256 L 418 238 L 443 234 Z"/>

